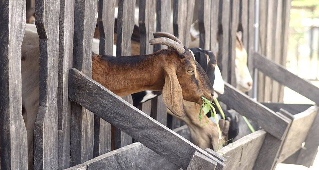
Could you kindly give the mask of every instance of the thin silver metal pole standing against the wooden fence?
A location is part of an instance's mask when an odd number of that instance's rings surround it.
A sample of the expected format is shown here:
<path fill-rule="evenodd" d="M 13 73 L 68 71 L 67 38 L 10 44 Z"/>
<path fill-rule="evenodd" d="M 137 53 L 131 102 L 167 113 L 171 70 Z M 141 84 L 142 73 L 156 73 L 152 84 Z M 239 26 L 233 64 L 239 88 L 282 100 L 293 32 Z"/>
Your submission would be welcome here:
<path fill-rule="evenodd" d="M 258 39 L 259 39 L 259 0 L 255 0 L 255 23 L 254 23 L 254 51 L 258 52 Z M 253 99 L 257 100 L 257 81 L 258 70 L 254 69 L 254 83 L 253 83 Z"/>

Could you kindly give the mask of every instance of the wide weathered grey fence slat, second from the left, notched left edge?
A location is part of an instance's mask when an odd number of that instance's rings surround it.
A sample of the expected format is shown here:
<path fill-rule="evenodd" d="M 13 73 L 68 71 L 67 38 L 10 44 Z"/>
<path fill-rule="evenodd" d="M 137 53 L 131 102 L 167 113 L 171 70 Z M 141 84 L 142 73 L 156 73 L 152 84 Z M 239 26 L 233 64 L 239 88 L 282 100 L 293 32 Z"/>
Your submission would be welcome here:
<path fill-rule="evenodd" d="M 40 39 L 40 88 L 34 126 L 33 169 L 58 167 L 59 9 L 59 1 L 35 2 L 35 25 Z"/>

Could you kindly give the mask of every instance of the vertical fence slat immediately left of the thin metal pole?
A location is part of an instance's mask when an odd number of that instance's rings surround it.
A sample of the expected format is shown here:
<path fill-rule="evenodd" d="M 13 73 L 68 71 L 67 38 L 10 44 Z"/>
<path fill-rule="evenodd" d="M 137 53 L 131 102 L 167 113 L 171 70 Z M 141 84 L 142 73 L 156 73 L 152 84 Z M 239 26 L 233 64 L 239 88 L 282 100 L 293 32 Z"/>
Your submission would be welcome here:
<path fill-rule="evenodd" d="M 244 0 L 245 1 L 245 0 Z M 254 20 L 255 20 L 255 0 L 248 0 L 248 30 L 244 30 L 244 34 L 246 34 L 248 36 L 247 38 L 247 54 L 248 54 L 248 58 L 247 58 L 247 65 L 248 65 L 248 69 L 250 72 L 250 75 L 253 76 L 253 70 L 254 70 L 254 66 L 253 66 L 253 52 L 254 52 Z M 245 42 L 244 42 L 245 44 Z M 253 82 L 253 83 L 257 83 L 257 82 Z M 253 96 L 253 91 L 250 90 L 248 92 L 248 95 L 250 97 Z"/>

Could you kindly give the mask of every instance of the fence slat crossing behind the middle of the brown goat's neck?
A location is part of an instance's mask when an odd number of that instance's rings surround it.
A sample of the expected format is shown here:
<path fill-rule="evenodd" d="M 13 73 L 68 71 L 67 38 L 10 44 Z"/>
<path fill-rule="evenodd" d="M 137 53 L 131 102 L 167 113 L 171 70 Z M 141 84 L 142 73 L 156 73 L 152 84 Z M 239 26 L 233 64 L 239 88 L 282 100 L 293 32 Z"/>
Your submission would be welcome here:
<path fill-rule="evenodd" d="M 135 0 L 119 0 L 117 14 L 116 55 L 131 55 L 131 35 L 134 28 Z M 131 95 L 123 97 L 133 104 Z M 132 143 L 132 138 L 112 126 L 112 149 Z"/>

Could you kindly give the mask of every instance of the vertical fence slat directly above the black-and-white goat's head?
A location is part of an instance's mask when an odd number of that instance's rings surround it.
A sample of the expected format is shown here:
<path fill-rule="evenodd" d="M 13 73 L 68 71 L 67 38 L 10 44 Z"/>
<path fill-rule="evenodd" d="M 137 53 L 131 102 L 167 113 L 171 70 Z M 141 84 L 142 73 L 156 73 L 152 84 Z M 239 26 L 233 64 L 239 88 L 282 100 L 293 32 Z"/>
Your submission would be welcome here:
<path fill-rule="evenodd" d="M 202 0 L 198 3 L 199 47 L 209 49 L 211 42 L 211 0 Z"/>

